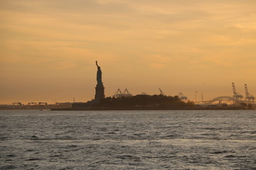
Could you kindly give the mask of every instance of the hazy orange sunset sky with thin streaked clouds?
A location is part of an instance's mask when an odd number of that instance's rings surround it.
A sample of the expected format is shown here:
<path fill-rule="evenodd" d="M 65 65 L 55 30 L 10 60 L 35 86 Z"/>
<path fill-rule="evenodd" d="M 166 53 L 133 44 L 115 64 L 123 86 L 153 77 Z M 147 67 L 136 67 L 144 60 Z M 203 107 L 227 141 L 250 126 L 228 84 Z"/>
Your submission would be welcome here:
<path fill-rule="evenodd" d="M 0 103 L 256 96 L 255 0 L 0 0 Z"/>

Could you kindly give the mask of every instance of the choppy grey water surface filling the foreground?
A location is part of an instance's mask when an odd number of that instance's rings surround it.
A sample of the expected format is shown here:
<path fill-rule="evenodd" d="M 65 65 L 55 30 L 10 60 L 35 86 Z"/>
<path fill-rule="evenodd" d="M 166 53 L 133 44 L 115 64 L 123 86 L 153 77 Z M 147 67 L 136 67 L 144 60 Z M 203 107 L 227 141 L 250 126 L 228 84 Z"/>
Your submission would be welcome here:
<path fill-rule="evenodd" d="M 0 111 L 0 169 L 256 169 L 256 111 Z"/>

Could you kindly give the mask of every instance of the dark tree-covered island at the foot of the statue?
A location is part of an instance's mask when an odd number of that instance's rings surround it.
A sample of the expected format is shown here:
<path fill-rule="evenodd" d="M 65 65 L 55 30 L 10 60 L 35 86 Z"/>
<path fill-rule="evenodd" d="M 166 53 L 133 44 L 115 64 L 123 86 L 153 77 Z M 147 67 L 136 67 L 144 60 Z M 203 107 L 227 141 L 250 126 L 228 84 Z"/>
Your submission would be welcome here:
<path fill-rule="evenodd" d="M 132 97 L 107 97 L 99 101 L 73 103 L 72 108 L 53 108 L 53 111 L 125 111 L 125 110 L 243 110 L 243 106 L 196 106 L 183 102 L 178 96 L 137 95 Z"/>

